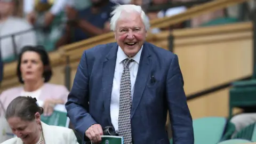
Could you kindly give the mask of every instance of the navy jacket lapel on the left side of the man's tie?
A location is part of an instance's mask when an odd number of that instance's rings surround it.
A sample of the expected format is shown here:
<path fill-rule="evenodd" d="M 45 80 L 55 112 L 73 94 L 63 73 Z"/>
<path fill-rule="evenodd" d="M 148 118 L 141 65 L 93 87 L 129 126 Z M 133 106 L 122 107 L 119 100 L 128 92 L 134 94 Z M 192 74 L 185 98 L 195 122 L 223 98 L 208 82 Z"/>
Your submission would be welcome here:
<path fill-rule="evenodd" d="M 102 91 L 104 98 L 104 109 L 106 111 L 106 116 L 108 117 L 108 122 L 111 124 L 110 118 L 110 101 L 111 101 L 111 92 L 113 86 L 113 79 L 116 66 L 116 53 L 118 45 L 115 43 L 114 46 L 110 49 L 107 57 L 103 62 L 102 69 Z"/>

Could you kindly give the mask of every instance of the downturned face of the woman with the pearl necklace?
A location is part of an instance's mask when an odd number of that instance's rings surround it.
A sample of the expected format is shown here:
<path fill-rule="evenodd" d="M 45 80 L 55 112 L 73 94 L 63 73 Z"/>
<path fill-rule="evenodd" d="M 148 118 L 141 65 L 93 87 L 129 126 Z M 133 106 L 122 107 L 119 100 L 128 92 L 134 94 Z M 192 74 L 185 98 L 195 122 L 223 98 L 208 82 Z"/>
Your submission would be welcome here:
<path fill-rule="evenodd" d="M 13 134 L 17 135 L 24 143 L 31 143 L 38 139 L 41 133 L 40 114 L 35 114 L 33 121 L 23 121 L 20 117 L 10 117 L 7 119 Z"/>

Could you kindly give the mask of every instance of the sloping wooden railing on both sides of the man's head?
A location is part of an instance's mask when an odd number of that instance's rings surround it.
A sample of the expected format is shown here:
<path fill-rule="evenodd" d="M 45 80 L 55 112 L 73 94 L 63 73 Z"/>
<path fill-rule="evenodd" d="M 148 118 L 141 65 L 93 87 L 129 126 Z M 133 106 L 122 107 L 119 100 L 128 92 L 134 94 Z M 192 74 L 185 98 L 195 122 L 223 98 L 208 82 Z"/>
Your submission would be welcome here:
<path fill-rule="evenodd" d="M 216 10 L 226 8 L 230 5 L 243 3 L 245 1 L 248 1 L 248 0 L 216 0 L 209 3 L 201 4 L 195 7 L 191 7 L 187 11 L 174 15 L 172 17 L 164 17 L 161 19 L 152 20 L 150 21 L 151 28 L 166 28 L 166 27 L 175 25 L 177 23 L 189 20 L 191 18 L 197 17 L 201 14 L 214 12 Z M 72 57 L 74 53 L 81 53 L 81 51 L 90 49 L 90 47 L 93 47 L 95 45 L 114 42 L 114 41 L 115 41 L 114 33 L 108 33 L 108 34 L 103 34 L 93 38 L 89 38 L 74 44 L 62 46 L 61 49 L 65 51 L 66 55 L 69 55 L 70 57 Z M 77 49 L 80 49 L 80 50 L 77 50 Z"/>

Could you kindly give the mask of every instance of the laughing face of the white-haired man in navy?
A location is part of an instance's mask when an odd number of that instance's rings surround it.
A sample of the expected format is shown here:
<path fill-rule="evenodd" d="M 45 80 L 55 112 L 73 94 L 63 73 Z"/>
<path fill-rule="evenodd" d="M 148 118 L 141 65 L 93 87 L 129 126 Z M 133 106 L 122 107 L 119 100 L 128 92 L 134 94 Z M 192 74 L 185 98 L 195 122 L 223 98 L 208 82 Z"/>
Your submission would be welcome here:
<path fill-rule="evenodd" d="M 122 12 L 117 20 L 115 39 L 128 57 L 136 55 L 146 40 L 147 31 L 138 12 Z"/>

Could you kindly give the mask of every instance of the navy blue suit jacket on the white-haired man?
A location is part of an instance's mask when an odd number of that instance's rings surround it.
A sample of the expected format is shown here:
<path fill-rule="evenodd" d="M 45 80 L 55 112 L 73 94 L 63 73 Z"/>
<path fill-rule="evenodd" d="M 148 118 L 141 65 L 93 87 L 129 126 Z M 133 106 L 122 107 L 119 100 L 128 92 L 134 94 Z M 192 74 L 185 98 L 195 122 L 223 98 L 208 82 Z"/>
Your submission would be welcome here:
<path fill-rule="evenodd" d="M 110 98 L 117 49 L 117 43 L 109 43 L 95 46 L 82 55 L 66 103 L 70 121 L 82 135 L 93 124 L 102 128 L 112 125 Z M 151 76 L 155 77 L 154 81 Z M 194 144 L 192 118 L 177 55 L 146 42 L 134 87 L 133 143 L 169 144 L 165 131 L 169 110 L 174 144 Z"/>

